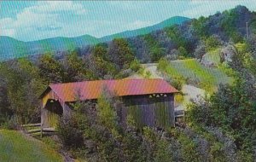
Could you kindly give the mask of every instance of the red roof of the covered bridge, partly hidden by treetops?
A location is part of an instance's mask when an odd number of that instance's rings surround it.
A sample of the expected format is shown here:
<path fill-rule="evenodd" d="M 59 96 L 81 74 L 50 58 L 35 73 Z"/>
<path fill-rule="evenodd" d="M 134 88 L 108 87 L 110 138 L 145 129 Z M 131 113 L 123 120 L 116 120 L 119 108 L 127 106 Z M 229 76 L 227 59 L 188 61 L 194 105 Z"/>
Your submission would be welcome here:
<path fill-rule="evenodd" d="M 78 95 L 79 99 L 84 101 L 97 99 L 101 95 L 104 86 L 119 96 L 178 92 L 165 80 L 160 78 L 96 80 L 67 84 L 50 84 L 49 88 L 63 101 L 76 101 Z"/>

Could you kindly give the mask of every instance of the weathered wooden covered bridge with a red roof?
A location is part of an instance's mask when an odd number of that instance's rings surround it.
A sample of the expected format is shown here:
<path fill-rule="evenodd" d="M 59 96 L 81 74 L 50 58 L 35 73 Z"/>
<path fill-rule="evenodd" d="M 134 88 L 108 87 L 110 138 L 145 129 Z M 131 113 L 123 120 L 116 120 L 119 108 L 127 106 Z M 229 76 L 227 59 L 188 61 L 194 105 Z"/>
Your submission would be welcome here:
<path fill-rule="evenodd" d="M 103 87 L 113 91 L 124 104 L 121 119 L 130 114 L 138 125 L 174 126 L 174 93 L 177 90 L 163 79 L 96 80 L 67 84 L 50 84 L 40 96 L 41 123 L 55 127 L 62 115 L 70 114 L 75 101 L 97 101 Z M 78 98 L 79 95 L 79 98 Z"/>

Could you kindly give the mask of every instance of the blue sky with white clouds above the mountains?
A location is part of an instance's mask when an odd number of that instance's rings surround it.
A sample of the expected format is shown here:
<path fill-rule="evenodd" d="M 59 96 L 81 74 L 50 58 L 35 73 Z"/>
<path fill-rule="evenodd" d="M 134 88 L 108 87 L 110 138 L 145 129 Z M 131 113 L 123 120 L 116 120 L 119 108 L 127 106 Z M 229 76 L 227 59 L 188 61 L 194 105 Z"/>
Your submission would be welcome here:
<path fill-rule="evenodd" d="M 101 38 L 176 15 L 198 18 L 239 4 L 256 10 L 256 0 L 1 1 L 0 35 L 22 41 L 84 34 Z"/>

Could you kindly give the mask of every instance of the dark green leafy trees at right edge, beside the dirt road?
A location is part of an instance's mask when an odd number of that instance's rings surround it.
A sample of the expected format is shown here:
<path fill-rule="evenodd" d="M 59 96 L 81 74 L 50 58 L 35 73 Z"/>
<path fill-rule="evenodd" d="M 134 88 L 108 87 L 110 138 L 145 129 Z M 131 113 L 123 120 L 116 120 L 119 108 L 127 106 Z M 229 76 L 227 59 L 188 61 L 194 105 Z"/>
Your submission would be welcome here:
<path fill-rule="evenodd" d="M 247 150 L 246 154 L 250 154 L 253 153 L 252 149 L 255 146 L 253 115 L 256 112 L 255 99 L 252 95 L 255 91 L 253 88 L 255 82 L 252 76 L 242 69 L 241 61 L 242 59 L 236 63 L 233 62 L 232 65 L 240 72 L 234 84 L 220 85 L 218 92 L 209 100 L 192 105 L 188 114 L 189 120 L 195 124 L 218 127 L 232 134 L 236 148 L 242 151 Z"/>

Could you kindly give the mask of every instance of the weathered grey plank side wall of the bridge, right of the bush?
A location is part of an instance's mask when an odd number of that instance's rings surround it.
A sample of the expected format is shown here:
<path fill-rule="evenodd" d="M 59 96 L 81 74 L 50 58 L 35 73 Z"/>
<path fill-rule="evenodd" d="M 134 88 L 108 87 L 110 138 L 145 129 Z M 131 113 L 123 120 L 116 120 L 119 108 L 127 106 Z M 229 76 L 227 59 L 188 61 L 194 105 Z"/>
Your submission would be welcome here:
<path fill-rule="evenodd" d="M 126 117 L 129 113 L 129 108 L 133 111 L 136 110 L 141 117 L 135 119 L 137 122 L 141 121 L 142 125 L 155 126 L 164 128 L 166 126 L 174 126 L 174 95 L 166 94 L 167 96 L 160 95 L 160 97 L 149 95 L 136 95 L 136 96 L 125 96 L 123 101 L 125 107 L 122 110 L 121 120 L 123 123 L 126 122 Z M 160 110 L 161 109 L 161 110 Z M 131 111 L 132 111 L 131 110 Z M 161 112 L 162 114 L 157 114 Z M 161 118 L 163 123 L 158 119 L 158 115 L 162 115 Z"/>

